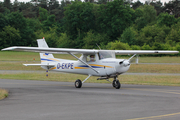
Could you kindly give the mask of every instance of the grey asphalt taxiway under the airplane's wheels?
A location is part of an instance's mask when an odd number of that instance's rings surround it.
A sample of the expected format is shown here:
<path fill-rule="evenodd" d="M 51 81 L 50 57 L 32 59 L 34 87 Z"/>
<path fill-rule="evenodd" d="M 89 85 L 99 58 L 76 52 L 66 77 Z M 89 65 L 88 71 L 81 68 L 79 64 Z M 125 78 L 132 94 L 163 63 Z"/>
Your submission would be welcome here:
<path fill-rule="evenodd" d="M 0 79 L 1 120 L 178 120 L 180 87 Z"/>

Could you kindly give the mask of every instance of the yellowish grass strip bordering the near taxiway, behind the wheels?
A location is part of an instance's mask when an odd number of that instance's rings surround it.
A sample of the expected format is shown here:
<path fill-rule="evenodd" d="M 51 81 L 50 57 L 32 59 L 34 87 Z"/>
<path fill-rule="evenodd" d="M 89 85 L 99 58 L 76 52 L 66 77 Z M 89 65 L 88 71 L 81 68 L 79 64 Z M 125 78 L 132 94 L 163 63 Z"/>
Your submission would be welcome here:
<path fill-rule="evenodd" d="M 1 79 L 20 79 L 20 80 L 43 80 L 43 81 L 62 81 L 74 82 L 76 79 L 84 80 L 87 75 L 50 73 L 22 73 L 22 74 L 0 74 Z M 105 80 L 96 80 L 97 77 L 90 77 L 89 83 L 109 83 Z M 112 79 L 111 79 L 112 80 Z M 163 85 L 180 86 L 180 76 L 169 75 L 120 75 L 119 80 L 122 84 L 140 84 L 140 85 Z"/>

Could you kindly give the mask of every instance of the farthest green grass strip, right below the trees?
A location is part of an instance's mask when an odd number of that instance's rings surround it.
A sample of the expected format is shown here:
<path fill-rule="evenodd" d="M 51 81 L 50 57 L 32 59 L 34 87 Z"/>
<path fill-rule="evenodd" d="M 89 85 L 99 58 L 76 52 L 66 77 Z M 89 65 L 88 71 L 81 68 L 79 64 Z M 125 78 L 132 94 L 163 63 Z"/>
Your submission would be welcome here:
<path fill-rule="evenodd" d="M 23 61 L 23 62 L 40 62 L 39 53 L 17 52 L 17 51 L 0 51 L 0 61 Z M 56 58 L 76 60 L 69 54 L 54 54 Z M 78 57 L 81 54 L 77 55 Z M 118 59 L 128 59 L 129 57 L 120 57 Z M 139 57 L 139 63 L 180 63 L 180 57 Z"/>

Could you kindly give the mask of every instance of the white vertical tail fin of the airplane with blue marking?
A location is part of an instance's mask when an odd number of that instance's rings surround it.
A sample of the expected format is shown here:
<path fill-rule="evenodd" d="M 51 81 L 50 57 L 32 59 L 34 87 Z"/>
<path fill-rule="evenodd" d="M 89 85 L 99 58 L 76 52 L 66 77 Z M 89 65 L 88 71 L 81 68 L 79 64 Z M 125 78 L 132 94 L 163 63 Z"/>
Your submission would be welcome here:
<path fill-rule="evenodd" d="M 49 48 L 45 39 L 38 39 L 37 42 L 38 42 L 38 47 Z M 54 56 L 53 54 L 49 54 L 49 53 L 40 53 L 40 58 L 41 60 L 45 60 L 47 58 L 54 58 Z"/>

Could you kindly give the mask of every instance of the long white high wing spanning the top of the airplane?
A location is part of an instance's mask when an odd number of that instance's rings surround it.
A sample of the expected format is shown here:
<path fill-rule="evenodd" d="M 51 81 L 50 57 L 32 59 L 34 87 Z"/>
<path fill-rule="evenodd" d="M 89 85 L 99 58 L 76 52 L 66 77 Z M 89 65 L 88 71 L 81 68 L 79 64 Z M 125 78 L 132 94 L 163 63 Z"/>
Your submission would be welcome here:
<path fill-rule="evenodd" d="M 90 49 L 70 49 L 70 48 L 41 48 L 41 47 L 8 47 L 4 50 L 13 50 L 13 51 L 29 51 L 29 52 L 47 52 L 47 53 L 83 53 L 83 54 L 93 54 L 98 53 L 99 51 L 107 50 L 90 50 Z M 177 54 L 179 51 L 162 51 L 162 50 L 111 50 L 115 52 L 116 55 L 127 55 L 127 54 Z"/>

